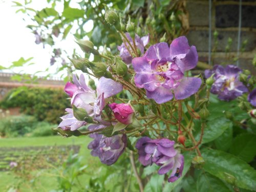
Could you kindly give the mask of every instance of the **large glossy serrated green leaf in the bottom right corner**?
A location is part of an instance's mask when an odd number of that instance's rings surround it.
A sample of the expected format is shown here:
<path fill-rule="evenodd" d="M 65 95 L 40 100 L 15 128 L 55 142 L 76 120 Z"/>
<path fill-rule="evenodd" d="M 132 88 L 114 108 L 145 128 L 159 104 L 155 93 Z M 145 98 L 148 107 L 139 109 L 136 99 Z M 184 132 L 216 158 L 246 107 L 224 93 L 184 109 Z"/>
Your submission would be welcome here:
<path fill-rule="evenodd" d="M 205 160 L 206 172 L 227 182 L 230 182 L 227 175 L 233 176 L 235 178 L 234 185 L 255 190 L 256 170 L 243 160 L 231 154 L 210 149 L 203 150 L 202 156 Z"/>

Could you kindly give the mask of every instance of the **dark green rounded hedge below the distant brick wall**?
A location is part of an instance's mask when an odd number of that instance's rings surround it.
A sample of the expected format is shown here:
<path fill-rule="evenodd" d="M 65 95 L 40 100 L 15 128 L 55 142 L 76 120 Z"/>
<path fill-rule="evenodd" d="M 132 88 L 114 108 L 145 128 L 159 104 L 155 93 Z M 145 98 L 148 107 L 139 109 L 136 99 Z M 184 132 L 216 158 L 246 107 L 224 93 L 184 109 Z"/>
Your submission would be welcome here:
<path fill-rule="evenodd" d="M 20 87 L 10 91 L 0 106 L 4 109 L 20 107 L 21 112 L 40 121 L 58 123 L 70 101 L 62 90 Z"/>

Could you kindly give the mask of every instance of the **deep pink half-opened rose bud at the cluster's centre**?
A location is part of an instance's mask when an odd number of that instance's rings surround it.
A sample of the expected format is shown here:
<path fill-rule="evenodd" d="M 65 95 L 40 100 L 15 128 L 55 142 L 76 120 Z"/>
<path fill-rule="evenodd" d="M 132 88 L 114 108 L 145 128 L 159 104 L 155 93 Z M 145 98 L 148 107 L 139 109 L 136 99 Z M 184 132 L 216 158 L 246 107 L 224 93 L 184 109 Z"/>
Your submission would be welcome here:
<path fill-rule="evenodd" d="M 131 124 L 133 122 L 134 110 L 130 104 L 111 103 L 110 108 L 114 112 L 115 118 L 123 124 Z"/>

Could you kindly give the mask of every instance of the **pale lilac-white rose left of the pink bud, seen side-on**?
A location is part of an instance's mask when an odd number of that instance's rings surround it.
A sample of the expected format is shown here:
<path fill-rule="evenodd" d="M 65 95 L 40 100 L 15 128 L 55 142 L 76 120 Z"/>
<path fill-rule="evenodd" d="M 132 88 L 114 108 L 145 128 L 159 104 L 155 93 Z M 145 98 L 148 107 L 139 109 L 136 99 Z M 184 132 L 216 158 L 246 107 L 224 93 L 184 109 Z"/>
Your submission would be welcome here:
<path fill-rule="evenodd" d="M 79 79 L 77 79 L 76 75 L 73 75 L 73 82 L 74 84 L 68 82 L 65 86 L 65 92 L 72 97 L 71 105 L 86 110 L 89 116 L 94 117 L 94 120 L 109 125 L 110 122 L 101 119 L 101 112 L 106 104 L 105 99 L 121 92 L 122 85 L 112 79 L 101 77 L 95 92 L 87 86 L 83 74 L 80 75 Z M 61 127 L 61 129 L 74 131 L 87 123 L 77 120 L 73 115 L 72 109 L 66 109 L 66 111 L 69 114 L 60 117 L 62 122 L 58 127 Z"/>

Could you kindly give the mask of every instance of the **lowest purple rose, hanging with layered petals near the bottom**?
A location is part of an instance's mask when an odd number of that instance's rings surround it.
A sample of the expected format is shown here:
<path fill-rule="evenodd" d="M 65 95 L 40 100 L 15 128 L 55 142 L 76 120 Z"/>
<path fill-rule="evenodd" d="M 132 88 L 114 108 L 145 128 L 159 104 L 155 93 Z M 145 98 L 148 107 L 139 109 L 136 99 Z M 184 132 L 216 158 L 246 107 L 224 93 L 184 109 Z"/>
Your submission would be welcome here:
<path fill-rule="evenodd" d="M 166 174 L 172 170 L 168 182 L 174 182 L 182 175 L 184 157 L 174 148 L 175 141 L 169 139 L 151 139 L 142 137 L 136 143 L 139 153 L 139 161 L 142 165 L 156 163 L 161 166 L 159 175 Z"/>

